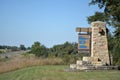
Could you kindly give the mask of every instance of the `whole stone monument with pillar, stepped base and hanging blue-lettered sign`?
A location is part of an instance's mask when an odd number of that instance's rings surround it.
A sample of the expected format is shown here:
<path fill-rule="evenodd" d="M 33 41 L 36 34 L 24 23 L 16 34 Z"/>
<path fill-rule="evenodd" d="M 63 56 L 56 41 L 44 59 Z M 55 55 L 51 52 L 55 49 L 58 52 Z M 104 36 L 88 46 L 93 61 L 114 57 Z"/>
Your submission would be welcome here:
<path fill-rule="evenodd" d="M 70 69 L 72 70 L 118 69 L 118 67 L 116 66 L 110 66 L 106 30 L 107 30 L 106 24 L 101 21 L 92 22 L 90 28 L 76 28 L 76 32 L 79 33 L 78 52 L 87 50 L 91 53 L 91 55 L 84 56 L 82 60 L 77 60 L 76 64 L 70 64 Z M 82 32 L 87 32 L 89 34 L 83 34 Z M 86 45 L 88 42 L 90 42 L 89 45 L 90 47 Z"/>

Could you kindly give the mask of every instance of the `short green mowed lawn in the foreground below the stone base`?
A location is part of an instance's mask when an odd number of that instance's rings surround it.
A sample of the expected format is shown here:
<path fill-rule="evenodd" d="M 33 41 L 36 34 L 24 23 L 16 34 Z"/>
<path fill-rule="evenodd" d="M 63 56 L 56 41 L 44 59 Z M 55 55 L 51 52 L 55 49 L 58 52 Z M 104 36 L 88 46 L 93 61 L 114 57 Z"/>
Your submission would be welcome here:
<path fill-rule="evenodd" d="M 68 66 L 34 66 L 0 74 L 0 80 L 120 80 L 120 71 L 65 72 Z"/>

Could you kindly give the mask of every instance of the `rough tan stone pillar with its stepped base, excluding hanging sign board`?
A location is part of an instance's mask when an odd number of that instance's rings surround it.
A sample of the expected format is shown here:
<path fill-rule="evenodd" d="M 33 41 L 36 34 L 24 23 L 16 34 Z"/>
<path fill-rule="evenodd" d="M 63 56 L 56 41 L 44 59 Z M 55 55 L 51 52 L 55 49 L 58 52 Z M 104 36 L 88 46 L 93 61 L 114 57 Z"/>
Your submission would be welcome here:
<path fill-rule="evenodd" d="M 90 36 L 90 53 L 91 56 L 83 57 L 83 60 L 77 60 L 76 64 L 70 64 L 71 69 L 92 70 L 98 68 L 106 68 L 110 65 L 108 53 L 106 24 L 101 21 L 91 23 L 90 28 L 77 28 L 77 32 L 88 32 Z M 83 36 L 84 37 L 84 36 Z M 78 46 L 81 44 L 78 44 Z M 79 50 L 79 49 L 78 49 Z M 85 49 L 83 49 L 85 50 Z M 79 51 L 80 52 L 80 51 Z M 107 67 L 108 68 L 108 67 Z"/>

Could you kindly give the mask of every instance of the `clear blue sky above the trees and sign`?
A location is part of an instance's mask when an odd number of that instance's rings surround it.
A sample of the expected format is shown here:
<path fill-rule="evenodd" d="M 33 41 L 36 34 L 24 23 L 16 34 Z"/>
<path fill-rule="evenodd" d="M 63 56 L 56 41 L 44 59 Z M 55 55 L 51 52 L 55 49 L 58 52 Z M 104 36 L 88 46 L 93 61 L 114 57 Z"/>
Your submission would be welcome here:
<path fill-rule="evenodd" d="M 100 11 L 91 0 L 0 0 L 0 45 L 50 48 L 77 42 L 76 27 L 90 27 L 87 17 Z"/>

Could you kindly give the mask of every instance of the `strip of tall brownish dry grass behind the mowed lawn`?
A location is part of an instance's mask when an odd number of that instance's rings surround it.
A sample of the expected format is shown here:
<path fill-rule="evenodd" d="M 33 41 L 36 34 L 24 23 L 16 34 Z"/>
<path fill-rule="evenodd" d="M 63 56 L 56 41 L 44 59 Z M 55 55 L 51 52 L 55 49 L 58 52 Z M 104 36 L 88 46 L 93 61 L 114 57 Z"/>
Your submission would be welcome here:
<path fill-rule="evenodd" d="M 17 55 L 9 61 L 0 62 L 0 73 L 17 70 L 30 66 L 59 65 L 63 61 L 60 58 L 37 58 L 35 56 Z"/>

